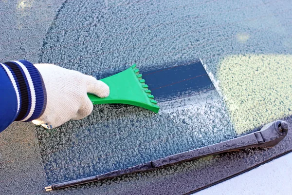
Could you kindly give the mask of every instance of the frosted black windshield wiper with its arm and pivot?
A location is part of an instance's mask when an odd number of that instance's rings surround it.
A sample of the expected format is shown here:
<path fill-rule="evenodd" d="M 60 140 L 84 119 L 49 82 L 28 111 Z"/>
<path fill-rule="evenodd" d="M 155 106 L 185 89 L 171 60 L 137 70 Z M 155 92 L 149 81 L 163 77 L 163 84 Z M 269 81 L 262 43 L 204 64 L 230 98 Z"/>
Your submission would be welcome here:
<path fill-rule="evenodd" d="M 181 163 L 184 161 L 193 160 L 204 156 L 230 152 L 234 150 L 240 150 L 244 148 L 273 147 L 276 144 L 278 144 L 288 134 L 288 130 L 289 126 L 287 122 L 282 120 L 276 120 L 265 125 L 260 131 L 253 132 L 242 137 L 237 137 L 234 139 L 230 139 L 217 144 L 198 148 L 195 150 L 190 150 L 183 153 L 166 156 L 158 160 L 149 161 L 126 169 L 120 169 L 109 173 L 76 179 L 72 181 L 55 183 L 48 187 L 45 187 L 45 190 L 46 191 L 57 190 L 61 188 L 81 185 L 112 177 L 123 176 L 138 172 L 152 171 L 155 169 Z"/>

